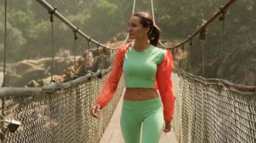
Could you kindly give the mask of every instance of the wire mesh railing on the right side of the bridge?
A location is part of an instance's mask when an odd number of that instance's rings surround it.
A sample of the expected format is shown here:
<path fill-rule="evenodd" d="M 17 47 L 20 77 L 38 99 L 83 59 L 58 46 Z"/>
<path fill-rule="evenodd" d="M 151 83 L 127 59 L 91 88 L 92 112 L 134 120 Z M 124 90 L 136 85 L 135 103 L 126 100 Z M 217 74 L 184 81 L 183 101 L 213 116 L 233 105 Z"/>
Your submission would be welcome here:
<path fill-rule="evenodd" d="M 238 92 L 180 71 L 172 80 L 177 96 L 173 126 L 180 142 L 256 142 L 255 87 Z"/>

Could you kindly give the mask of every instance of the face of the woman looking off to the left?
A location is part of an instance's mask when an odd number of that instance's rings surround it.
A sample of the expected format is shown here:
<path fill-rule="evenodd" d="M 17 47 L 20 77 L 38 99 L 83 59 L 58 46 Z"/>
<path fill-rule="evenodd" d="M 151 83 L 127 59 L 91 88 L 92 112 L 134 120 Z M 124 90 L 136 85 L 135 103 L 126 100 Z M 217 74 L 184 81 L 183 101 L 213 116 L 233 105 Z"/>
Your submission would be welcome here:
<path fill-rule="evenodd" d="M 147 37 L 149 28 L 143 28 L 140 19 L 137 16 L 132 16 L 128 23 L 129 39 L 143 39 Z"/>

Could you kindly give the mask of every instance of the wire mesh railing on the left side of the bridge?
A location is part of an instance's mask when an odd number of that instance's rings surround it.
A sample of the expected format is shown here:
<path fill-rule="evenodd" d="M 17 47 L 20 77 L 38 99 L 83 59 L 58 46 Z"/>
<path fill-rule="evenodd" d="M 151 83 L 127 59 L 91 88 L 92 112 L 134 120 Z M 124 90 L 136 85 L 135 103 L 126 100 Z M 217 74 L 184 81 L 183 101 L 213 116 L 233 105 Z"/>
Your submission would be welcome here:
<path fill-rule="evenodd" d="M 10 132 L 7 124 L 1 128 L 2 142 L 98 142 L 121 97 L 123 79 L 116 95 L 100 111 L 100 118 L 90 115 L 90 107 L 99 95 L 106 77 L 89 78 L 71 87 L 5 97 L 2 101 L 3 120 L 15 120 L 22 125 Z"/>

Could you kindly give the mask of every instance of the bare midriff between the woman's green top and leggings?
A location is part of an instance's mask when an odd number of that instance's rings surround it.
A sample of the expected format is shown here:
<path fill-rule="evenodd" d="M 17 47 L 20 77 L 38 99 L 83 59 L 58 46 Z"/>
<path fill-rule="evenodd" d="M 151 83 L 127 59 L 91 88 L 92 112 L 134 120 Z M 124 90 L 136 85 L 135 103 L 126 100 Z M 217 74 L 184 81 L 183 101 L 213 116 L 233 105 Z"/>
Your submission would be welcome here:
<path fill-rule="evenodd" d="M 145 101 L 158 97 L 158 91 L 152 88 L 131 88 L 125 89 L 124 100 L 127 101 Z"/>

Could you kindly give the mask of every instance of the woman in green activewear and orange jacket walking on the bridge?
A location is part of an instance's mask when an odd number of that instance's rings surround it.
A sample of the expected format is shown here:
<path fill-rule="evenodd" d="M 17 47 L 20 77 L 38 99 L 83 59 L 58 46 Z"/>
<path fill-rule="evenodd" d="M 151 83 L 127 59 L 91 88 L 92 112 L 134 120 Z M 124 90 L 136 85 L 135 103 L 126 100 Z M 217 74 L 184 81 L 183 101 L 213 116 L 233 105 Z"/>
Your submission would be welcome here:
<path fill-rule="evenodd" d="M 125 44 L 117 51 L 113 69 L 91 113 L 98 117 L 98 111 L 113 97 L 124 73 L 126 90 L 120 123 L 125 143 L 139 143 L 140 138 L 142 143 L 157 143 L 164 121 L 164 132 L 170 132 L 171 128 L 175 100 L 170 80 L 172 55 L 156 47 L 160 29 L 154 25 L 149 13 L 134 13 L 129 19 L 128 32 L 135 42 Z"/>

